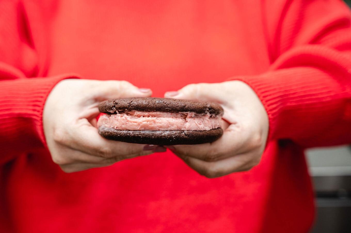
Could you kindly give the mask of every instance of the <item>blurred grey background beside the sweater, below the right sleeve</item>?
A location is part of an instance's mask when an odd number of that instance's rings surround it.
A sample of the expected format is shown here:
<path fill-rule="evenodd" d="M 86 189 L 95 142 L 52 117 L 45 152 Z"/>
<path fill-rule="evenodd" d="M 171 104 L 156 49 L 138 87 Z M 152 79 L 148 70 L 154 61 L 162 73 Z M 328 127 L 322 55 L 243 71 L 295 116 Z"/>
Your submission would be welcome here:
<path fill-rule="evenodd" d="M 345 0 L 351 6 L 351 0 Z M 311 233 L 351 232 L 351 146 L 307 151 L 316 192 Z"/>

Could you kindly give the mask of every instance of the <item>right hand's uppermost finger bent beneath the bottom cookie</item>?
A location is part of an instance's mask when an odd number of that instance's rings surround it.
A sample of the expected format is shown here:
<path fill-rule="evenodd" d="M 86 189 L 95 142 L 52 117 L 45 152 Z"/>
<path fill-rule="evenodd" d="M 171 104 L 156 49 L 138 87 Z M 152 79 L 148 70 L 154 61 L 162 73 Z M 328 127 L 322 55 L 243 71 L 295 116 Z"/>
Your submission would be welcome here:
<path fill-rule="evenodd" d="M 261 146 L 258 139 L 239 125 L 230 125 L 223 135 L 212 143 L 198 145 L 176 145 L 173 152 L 180 156 L 189 156 L 203 161 L 218 161 L 246 153 Z"/>

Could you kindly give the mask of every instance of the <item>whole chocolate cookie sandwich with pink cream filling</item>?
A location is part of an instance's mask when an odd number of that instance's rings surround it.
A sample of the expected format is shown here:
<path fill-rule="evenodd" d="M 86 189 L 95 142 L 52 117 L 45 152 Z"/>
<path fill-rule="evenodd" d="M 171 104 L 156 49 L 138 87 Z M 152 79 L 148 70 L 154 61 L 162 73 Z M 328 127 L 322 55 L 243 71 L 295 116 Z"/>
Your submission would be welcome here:
<path fill-rule="evenodd" d="M 107 139 L 153 145 L 201 144 L 222 134 L 223 108 L 214 103 L 169 98 L 125 98 L 99 104 Z"/>

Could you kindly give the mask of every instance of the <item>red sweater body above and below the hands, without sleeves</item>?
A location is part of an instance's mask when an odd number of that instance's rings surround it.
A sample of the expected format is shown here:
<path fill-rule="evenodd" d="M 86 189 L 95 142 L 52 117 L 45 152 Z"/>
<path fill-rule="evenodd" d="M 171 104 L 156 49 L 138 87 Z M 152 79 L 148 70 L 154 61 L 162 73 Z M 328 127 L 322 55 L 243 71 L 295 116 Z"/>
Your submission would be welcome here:
<path fill-rule="evenodd" d="M 39 70 L 127 80 L 157 97 L 190 83 L 262 73 L 269 52 L 262 12 L 252 4 L 46 1 L 40 7 L 49 32 L 46 47 L 38 44 Z M 32 14 L 29 22 L 38 18 Z M 309 181 L 294 179 L 307 176 L 303 153 L 293 159 L 286 149 L 279 158 L 278 150 L 272 142 L 257 167 L 217 179 L 200 176 L 170 151 L 73 174 L 38 152 L 13 164 L 21 172 L 8 191 L 11 218 L 19 232 L 264 232 L 277 219 L 277 229 L 296 232 L 310 220 L 287 227 L 290 217 L 301 205 L 312 208 L 302 199 Z"/>

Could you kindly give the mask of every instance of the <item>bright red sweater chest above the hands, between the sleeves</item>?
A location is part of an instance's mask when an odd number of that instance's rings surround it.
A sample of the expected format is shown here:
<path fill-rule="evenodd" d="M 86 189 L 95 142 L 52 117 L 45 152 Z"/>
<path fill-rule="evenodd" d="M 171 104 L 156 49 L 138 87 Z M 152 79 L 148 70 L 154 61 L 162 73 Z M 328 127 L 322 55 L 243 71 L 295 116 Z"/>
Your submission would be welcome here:
<path fill-rule="evenodd" d="M 92 2 L 55 6 L 48 75 L 127 80 L 161 97 L 186 84 L 222 82 L 269 66 L 263 27 L 252 24 L 245 3 Z"/>

